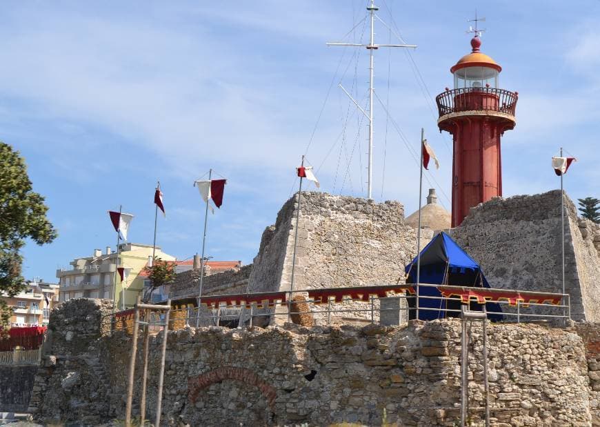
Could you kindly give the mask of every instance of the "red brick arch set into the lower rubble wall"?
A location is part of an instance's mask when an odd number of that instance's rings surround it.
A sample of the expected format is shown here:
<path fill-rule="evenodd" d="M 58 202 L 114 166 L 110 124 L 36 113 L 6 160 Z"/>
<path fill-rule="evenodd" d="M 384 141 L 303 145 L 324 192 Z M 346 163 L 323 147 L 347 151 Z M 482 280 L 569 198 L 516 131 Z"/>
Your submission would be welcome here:
<path fill-rule="evenodd" d="M 196 403 L 200 390 L 211 384 L 221 382 L 223 379 L 235 379 L 236 381 L 241 381 L 243 384 L 257 387 L 261 390 L 269 408 L 274 412 L 277 391 L 270 384 L 267 384 L 260 379 L 258 375 L 252 372 L 252 370 L 237 368 L 235 366 L 221 366 L 208 373 L 201 374 L 198 377 L 188 379 L 188 398 L 192 403 Z"/>

